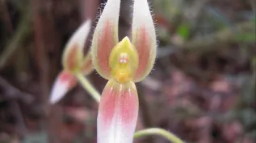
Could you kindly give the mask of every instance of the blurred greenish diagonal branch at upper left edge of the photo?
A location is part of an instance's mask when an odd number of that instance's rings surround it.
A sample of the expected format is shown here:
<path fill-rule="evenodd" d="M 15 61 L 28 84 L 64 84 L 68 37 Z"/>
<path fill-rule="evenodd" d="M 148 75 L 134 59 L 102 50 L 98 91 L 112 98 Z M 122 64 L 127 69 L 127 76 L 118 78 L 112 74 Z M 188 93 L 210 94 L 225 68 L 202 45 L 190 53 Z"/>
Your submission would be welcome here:
<path fill-rule="evenodd" d="M 28 6 L 27 6 L 28 7 Z M 0 68 L 4 67 L 10 56 L 14 54 L 14 52 L 20 47 L 21 43 L 23 43 L 23 39 L 26 39 L 28 35 L 31 34 L 31 23 L 30 23 L 30 9 L 27 8 L 23 10 L 22 20 L 15 32 L 15 35 L 10 39 L 9 44 L 5 47 L 5 50 L 2 51 L 2 55 L 0 55 Z"/>

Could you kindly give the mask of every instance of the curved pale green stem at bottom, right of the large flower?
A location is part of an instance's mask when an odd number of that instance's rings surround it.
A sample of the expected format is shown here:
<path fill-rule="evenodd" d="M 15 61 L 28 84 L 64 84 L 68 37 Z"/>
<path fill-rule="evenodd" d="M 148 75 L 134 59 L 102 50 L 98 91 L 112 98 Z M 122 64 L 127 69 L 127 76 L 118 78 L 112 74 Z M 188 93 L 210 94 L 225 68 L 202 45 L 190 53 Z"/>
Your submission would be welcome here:
<path fill-rule="evenodd" d="M 165 129 L 151 128 L 151 129 L 143 129 L 141 131 L 137 131 L 134 134 L 134 138 L 149 136 L 149 135 L 159 135 L 165 137 L 168 141 L 173 143 L 183 143 L 178 137 L 174 134 L 166 131 Z"/>

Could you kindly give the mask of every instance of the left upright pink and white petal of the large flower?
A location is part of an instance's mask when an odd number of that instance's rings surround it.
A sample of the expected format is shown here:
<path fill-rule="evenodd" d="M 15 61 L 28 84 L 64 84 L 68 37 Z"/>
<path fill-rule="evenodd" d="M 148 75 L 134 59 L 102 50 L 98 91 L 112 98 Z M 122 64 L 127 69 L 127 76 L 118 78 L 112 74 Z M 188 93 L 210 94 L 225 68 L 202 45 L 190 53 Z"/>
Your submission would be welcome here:
<path fill-rule="evenodd" d="M 94 31 L 91 45 L 92 62 L 100 76 L 110 77 L 109 56 L 118 43 L 120 0 L 108 0 Z"/>

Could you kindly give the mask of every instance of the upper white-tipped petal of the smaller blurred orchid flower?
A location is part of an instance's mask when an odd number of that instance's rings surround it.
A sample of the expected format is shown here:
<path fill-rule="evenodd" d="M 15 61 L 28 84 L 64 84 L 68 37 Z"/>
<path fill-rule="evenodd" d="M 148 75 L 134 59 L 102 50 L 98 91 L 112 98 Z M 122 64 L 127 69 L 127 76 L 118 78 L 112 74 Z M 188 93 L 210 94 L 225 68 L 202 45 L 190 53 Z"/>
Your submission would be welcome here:
<path fill-rule="evenodd" d="M 82 26 L 78 27 L 78 30 L 73 33 L 66 44 L 62 55 L 62 64 L 65 70 L 71 72 L 79 70 L 83 58 L 83 48 L 90 33 L 90 23 L 90 20 L 86 20 Z"/>

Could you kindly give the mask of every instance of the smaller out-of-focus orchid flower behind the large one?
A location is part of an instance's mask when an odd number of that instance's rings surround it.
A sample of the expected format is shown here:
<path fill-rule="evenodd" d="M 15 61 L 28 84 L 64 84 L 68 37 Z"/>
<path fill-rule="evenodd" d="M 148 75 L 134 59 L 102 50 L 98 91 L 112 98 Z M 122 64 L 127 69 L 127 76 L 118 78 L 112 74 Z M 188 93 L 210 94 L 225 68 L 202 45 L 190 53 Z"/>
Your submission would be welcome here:
<path fill-rule="evenodd" d="M 55 104 L 65 96 L 76 84 L 78 84 L 75 74 L 82 73 L 88 75 L 92 71 L 91 55 L 83 55 L 87 36 L 90 32 L 90 20 L 87 20 L 78 28 L 69 39 L 62 55 L 63 71 L 60 72 L 52 86 L 50 103 Z"/>

